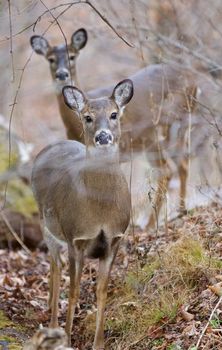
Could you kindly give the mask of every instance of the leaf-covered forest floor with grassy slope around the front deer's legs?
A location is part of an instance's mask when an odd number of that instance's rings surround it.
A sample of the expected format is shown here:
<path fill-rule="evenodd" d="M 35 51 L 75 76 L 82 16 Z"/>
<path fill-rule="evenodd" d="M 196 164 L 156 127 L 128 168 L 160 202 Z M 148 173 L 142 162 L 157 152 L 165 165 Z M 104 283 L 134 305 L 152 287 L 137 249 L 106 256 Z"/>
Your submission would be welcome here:
<path fill-rule="evenodd" d="M 222 212 L 212 204 L 148 234 L 127 237 L 120 250 L 106 308 L 106 348 L 119 350 L 222 349 Z M 64 253 L 66 254 L 66 253 Z M 67 259 L 66 259 L 67 261 Z M 87 260 L 72 346 L 91 349 L 96 315 L 97 261 Z M 21 349 L 39 325 L 47 326 L 49 255 L 0 250 L 0 349 Z M 68 265 L 62 275 L 64 327 Z"/>

